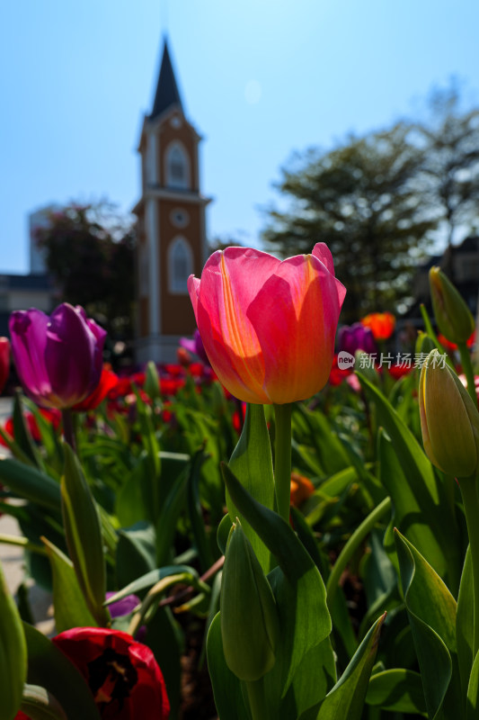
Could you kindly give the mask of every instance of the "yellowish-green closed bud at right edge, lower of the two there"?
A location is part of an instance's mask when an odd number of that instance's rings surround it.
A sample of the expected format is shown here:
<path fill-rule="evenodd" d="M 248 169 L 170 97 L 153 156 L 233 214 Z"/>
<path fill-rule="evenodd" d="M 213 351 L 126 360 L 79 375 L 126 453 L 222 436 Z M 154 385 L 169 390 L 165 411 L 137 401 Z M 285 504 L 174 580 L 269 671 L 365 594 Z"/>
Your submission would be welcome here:
<path fill-rule="evenodd" d="M 443 473 L 479 469 L 479 412 L 457 374 L 432 350 L 421 368 L 419 409 L 424 450 Z"/>

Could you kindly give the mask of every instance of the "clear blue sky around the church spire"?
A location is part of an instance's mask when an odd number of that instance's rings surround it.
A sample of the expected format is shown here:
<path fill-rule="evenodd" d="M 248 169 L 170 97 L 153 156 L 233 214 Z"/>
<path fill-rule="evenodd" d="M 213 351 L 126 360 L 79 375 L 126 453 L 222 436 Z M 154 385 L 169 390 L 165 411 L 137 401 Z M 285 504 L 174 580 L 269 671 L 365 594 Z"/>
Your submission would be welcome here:
<path fill-rule="evenodd" d="M 42 205 L 135 204 L 164 31 L 204 136 L 208 236 L 257 245 L 294 150 L 417 117 L 453 75 L 479 105 L 478 27 L 477 0 L 4 3 L 0 271 L 28 272 L 27 215 Z"/>

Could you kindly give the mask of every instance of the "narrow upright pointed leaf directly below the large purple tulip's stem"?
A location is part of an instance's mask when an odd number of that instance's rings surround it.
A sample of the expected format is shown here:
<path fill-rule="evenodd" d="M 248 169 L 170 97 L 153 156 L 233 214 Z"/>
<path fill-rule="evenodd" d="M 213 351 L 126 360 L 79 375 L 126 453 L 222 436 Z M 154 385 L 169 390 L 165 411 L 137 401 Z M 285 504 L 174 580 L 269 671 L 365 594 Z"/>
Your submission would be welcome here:
<path fill-rule="evenodd" d="M 100 518 L 81 465 L 67 444 L 60 487 L 68 554 L 88 608 L 97 623 L 106 626 L 110 613 L 103 608 L 106 574 Z"/>

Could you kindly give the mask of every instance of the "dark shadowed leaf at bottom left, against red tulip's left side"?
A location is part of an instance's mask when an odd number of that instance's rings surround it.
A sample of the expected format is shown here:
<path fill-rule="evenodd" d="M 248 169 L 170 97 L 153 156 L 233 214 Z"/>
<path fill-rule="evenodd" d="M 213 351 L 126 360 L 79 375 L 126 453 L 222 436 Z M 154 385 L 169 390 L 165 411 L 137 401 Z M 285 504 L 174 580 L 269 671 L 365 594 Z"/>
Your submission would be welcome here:
<path fill-rule="evenodd" d="M 23 623 L 23 632 L 27 643 L 28 682 L 51 692 L 68 720 L 101 720 L 93 695 L 75 665 L 34 627 Z"/>

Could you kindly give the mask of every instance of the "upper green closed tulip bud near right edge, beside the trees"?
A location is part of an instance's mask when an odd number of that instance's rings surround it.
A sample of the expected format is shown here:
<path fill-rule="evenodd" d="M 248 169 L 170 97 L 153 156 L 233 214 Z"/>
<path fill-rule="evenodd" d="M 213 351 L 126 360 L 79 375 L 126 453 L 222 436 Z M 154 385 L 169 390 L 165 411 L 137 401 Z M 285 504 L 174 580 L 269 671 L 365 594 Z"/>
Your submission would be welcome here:
<path fill-rule="evenodd" d="M 439 267 L 429 272 L 430 297 L 439 330 L 451 343 L 465 343 L 475 329 L 474 318 L 456 287 Z"/>

